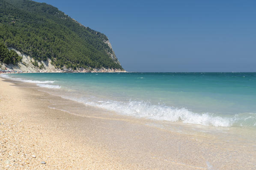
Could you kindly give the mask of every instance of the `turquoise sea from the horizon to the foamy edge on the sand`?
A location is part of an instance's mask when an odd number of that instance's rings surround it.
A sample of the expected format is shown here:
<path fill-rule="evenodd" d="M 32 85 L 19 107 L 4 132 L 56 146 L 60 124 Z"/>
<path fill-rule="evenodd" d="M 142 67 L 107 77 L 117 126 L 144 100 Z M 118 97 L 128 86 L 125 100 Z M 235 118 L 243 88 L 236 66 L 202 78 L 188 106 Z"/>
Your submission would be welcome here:
<path fill-rule="evenodd" d="M 27 73 L 1 75 L 137 118 L 256 127 L 256 73 Z"/>

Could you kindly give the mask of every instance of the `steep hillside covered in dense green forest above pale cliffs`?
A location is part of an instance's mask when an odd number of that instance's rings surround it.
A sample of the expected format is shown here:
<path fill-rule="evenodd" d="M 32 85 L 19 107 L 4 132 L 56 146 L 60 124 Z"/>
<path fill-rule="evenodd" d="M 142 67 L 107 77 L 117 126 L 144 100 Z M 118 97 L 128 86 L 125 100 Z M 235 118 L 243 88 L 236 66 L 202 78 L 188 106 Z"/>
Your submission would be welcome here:
<path fill-rule="evenodd" d="M 106 35 L 82 26 L 54 6 L 0 0 L 0 48 L 12 47 L 38 61 L 50 58 L 57 68 L 122 69 L 107 43 Z M 7 61 L 4 58 L 1 55 L 0 61 Z M 19 60 L 9 58 L 11 63 Z"/>

